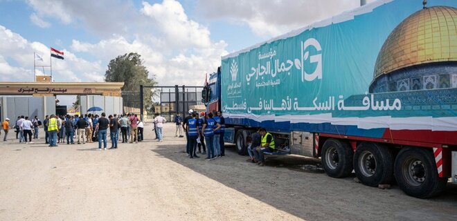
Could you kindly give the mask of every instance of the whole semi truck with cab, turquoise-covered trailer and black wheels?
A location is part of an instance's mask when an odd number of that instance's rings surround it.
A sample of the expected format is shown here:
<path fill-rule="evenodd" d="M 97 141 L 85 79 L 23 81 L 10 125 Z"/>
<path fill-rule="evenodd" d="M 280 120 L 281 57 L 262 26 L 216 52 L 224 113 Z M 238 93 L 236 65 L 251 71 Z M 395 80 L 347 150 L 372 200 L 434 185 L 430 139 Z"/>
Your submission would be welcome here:
<path fill-rule="evenodd" d="M 330 177 L 439 195 L 457 182 L 456 7 L 375 1 L 233 52 L 203 102 L 241 155 L 262 127 L 273 154 L 320 157 Z"/>

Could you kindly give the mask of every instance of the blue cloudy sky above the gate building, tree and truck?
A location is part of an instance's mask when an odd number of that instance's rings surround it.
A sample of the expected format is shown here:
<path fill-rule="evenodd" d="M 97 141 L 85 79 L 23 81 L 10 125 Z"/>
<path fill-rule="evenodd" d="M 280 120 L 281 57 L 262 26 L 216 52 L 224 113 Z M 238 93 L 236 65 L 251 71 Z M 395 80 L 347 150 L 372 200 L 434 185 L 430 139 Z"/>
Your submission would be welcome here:
<path fill-rule="evenodd" d="M 368 3 L 371 1 L 367 1 Z M 359 7 L 359 0 L 0 0 L 0 81 L 104 81 L 138 52 L 161 86 L 200 86 L 221 57 Z M 71 102 L 66 101 L 71 105 Z"/>

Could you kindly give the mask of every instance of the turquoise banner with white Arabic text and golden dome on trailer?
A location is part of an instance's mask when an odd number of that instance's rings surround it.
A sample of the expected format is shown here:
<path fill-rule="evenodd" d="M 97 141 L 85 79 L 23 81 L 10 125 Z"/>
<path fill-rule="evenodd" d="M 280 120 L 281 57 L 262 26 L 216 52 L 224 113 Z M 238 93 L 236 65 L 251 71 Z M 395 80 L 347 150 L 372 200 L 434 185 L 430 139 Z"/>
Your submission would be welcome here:
<path fill-rule="evenodd" d="M 457 131 L 456 7 L 375 1 L 227 55 L 222 111 L 249 124 Z"/>

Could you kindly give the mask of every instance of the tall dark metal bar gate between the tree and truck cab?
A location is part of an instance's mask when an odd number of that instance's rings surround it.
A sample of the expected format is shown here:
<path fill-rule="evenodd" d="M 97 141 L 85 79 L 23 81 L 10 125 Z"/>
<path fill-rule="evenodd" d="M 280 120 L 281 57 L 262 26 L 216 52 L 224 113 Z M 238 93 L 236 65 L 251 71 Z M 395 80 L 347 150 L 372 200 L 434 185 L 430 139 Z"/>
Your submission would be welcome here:
<path fill-rule="evenodd" d="M 157 104 L 154 105 L 154 111 L 147 111 L 150 115 L 144 116 L 143 90 L 156 90 L 155 94 Z M 174 122 L 174 117 L 177 113 L 181 117 L 186 117 L 192 106 L 203 108 L 201 102 L 201 90 L 203 86 L 143 86 L 140 85 L 140 113 L 143 121 L 150 120 L 154 117 L 154 113 L 160 113 L 168 122 Z M 204 110 L 201 110 L 204 111 Z"/>

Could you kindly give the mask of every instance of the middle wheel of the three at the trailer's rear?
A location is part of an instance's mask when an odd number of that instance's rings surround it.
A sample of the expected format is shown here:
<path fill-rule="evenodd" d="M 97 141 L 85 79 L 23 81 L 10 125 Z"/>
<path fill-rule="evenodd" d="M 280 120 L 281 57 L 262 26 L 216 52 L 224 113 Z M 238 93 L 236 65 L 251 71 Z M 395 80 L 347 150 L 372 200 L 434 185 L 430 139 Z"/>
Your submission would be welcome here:
<path fill-rule="evenodd" d="M 380 144 L 363 142 L 354 153 L 354 171 L 362 184 L 389 184 L 393 178 L 391 151 Z"/>

